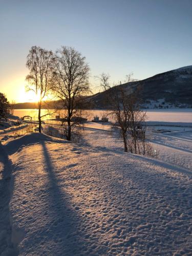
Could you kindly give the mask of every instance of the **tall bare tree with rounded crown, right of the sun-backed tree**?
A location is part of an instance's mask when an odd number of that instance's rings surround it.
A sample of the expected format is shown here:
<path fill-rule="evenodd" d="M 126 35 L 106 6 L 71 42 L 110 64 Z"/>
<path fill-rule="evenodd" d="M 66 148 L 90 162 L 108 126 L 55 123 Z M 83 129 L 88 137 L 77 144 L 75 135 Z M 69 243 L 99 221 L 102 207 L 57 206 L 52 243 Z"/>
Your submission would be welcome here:
<path fill-rule="evenodd" d="M 84 95 L 90 92 L 89 66 L 86 58 L 72 47 L 62 46 L 54 56 L 54 85 L 52 91 L 60 99 L 63 117 L 63 131 L 71 140 L 75 125 L 83 107 Z"/>

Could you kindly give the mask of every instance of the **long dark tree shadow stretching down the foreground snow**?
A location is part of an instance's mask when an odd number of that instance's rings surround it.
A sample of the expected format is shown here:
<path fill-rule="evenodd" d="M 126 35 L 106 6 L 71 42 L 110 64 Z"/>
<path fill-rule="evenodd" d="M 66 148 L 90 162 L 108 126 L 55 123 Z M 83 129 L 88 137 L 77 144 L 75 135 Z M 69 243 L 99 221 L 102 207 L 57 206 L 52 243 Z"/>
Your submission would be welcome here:
<path fill-rule="evenodd" d="M 85 234 L 79 230 L 79 224 L 83 221 L 82 217 L 72 206 L 70 197 L 65 192 L 66 187 L 64 187 L 65 180 L 63 177 L 61 181 L 64 181 L 64 185 L 63 183 L 59 184 L 59 178 L 55 175 L 55 168 L 46 143 L 42 142 L 41 144 L 45 158 L 45 170 L 49 179 L 49 184 L 46 187 L 46 192 L 49 194 L 47 215 L 51 220 L 49 227 L 45 227 L 49 229 L 49 240 L 51 236 L 52 242 L 54 240 L 55 252 L 60 251 L 63 255 L 79 255 L 84 253 L 86 248 L 90 246 L 88 245 L 89 242 L 84 239 Z"/>

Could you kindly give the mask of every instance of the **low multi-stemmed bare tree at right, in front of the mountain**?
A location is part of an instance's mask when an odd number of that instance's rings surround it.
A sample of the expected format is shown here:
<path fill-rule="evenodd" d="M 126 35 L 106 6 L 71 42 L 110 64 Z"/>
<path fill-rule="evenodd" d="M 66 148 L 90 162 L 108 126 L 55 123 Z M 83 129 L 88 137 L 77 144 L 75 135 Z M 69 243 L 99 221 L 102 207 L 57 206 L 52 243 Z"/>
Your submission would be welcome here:
<path fill-rule="evenodd" d="M 140 154 L 141 127 L 145 120 L 145 112 L 140 109 L 137 94 L 126 95 L 123 86 L 110 90 L 111 115 L 115 125 L 120 129 L 124 143 L 124 151 Z M 145 141 L 145 140 L 144 140 Z"/>

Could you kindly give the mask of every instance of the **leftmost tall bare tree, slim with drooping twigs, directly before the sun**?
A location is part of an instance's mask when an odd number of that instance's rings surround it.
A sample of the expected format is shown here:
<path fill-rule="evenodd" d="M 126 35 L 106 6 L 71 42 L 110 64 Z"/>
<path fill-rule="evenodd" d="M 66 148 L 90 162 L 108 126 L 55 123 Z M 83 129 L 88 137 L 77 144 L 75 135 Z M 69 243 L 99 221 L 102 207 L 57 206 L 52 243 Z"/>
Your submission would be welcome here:
<path fill-rule="evenodd" d="M 26 89 L 33 91 L 38 97 L 38 131 L 41 133 L 41 105 L 42 101 L 48 96 L 52 84 L 53 53 L 37 46 L 32 46 L 27 56 L 26 66 L 29 75 L 26 76 L 28 86 Z"/>

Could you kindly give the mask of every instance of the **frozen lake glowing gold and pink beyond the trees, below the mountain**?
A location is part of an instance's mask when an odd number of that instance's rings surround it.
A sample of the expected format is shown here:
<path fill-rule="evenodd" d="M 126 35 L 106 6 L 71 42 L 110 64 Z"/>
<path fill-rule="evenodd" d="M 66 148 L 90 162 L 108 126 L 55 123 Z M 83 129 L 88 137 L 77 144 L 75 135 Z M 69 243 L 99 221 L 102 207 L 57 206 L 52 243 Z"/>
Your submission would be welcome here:
<path fill-rule="evenodd" d="M 46 113 L 46 110 L 41 111 L 42 115 Z M 102 110 L 87 110 L 85 116 L 88 118 L 88 120 L 91 120 L 95 115 L 101 117 L 102 113 Z M 33 118 L 37 118 L 37 114 L 37 110 L 14 110 L 14 115 L 19 117 L 29 115 Z M 147 121 L 192 122 L 192 109 L 148 110 L 146 114 Z M 55 117 L 55 115 L 56 114 L 54 114 L 53 117 Z M 48 116 L 47 118 L 49 119 L 50 117 Z"/>

